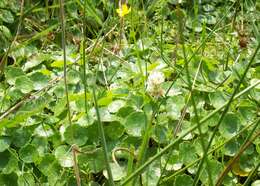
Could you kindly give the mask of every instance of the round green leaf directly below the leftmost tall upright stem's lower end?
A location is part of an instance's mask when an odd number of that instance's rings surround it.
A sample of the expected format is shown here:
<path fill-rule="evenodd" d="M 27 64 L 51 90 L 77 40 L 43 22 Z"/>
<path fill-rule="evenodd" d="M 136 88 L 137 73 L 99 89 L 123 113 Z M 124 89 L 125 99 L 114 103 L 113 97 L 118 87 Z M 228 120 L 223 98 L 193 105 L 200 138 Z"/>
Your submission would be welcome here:
<path fill-rule="evenodd" d="M 70 144 L 77 146 L 82 146 L 87 142 L 86 128 L 80 125 L 73 124 L 66 128 L 64 132 L 65 141 Z"/>

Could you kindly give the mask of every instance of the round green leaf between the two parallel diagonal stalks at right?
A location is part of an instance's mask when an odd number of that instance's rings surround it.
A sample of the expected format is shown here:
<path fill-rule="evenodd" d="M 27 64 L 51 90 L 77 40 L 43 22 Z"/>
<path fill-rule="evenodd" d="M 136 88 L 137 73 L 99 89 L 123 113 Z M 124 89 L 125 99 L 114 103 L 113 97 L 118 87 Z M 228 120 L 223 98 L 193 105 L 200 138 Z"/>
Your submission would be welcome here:
<path fill-rule="evenodd" d="M 219 132 L 223 137 L 231 138 L 238 133 L 240 125 L 240 119 L 236 114 L 227 113 L 219 127 Z"/>

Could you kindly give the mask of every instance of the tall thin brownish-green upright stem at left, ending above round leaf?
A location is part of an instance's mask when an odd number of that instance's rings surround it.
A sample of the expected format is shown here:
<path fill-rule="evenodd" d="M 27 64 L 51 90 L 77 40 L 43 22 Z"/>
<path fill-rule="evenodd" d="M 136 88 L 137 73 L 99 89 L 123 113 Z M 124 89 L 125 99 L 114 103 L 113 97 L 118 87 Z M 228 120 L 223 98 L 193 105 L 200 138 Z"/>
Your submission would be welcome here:
<path fill-rule="evenodd" d="M 70 112 L 70 102 L 67 84 L 67 59 L 66 59 L 66 32 L 65 32 L 65 13 L 64 13 L 64 0 L 60 0 L 60 18 L 61 18 L 61 29 L 62 29 L 62 49 L 63 49 L 63 74 L 64 74 L 64 87 L 67 101 L 67 110 L 69 117 L 69 124 L 71 125 L 71 112 Z"/>

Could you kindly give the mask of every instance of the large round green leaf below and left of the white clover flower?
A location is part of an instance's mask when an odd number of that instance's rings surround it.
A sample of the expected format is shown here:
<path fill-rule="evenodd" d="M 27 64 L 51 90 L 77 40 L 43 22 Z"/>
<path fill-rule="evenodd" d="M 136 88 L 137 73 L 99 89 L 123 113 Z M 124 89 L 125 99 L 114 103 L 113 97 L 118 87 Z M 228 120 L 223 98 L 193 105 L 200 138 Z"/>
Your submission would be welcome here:
<path fill-rule="evenodd" d="M 126 118 L 125 128 L 129 135 L 141 137 L 145 126 L 146 115 L 143 112 L 134 112 Z"/>

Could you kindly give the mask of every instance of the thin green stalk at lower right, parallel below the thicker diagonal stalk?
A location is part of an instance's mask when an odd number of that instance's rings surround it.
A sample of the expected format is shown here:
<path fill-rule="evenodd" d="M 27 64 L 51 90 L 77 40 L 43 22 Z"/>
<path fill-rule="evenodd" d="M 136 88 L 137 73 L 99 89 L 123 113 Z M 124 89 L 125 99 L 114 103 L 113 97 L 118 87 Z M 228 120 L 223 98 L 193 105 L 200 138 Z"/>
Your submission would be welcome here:
<path fill-rule="evenodd" d="M 232 136 L 231 138 L 225 140 L 223 143 L 221 143 L 220 145 L 216 146 L 215 148 L 213 148 L 212 150 L 210 150 L 208 152 L 208 155 L 213 153 L 216 150 L 219 150 L 221 147 L 223 147 L 225 144 L 227 144 L 228 142 L 230 142 L 231 140 L 239 137 L 245 130 L 247 130 L 248 128 L 250 128 L 251 126 L 253 126 L 255 124 L 257 124 L 256 121 L 250 123 L 249 125 L 245 126 L 243 129 L 241 129 L 235 136 Z M 185 170 L 187 170 L 188 168 L 194 166 L 196 163 L 198 163 L 200 160 L 202 159 L 202 157 L 198 158 L 197 160 L 193 161 L 192 163 L 186 165 L 185 167 L 183 167 L 182 169 L 176 171 L 175 173 L 173 173 L 172 175 L 166 177 L 163 179 L 162 183 L 168 182 L 169 180 L 173 179 L 175 176 L 179 175 L 180 173 L 184 172 Z"/>

